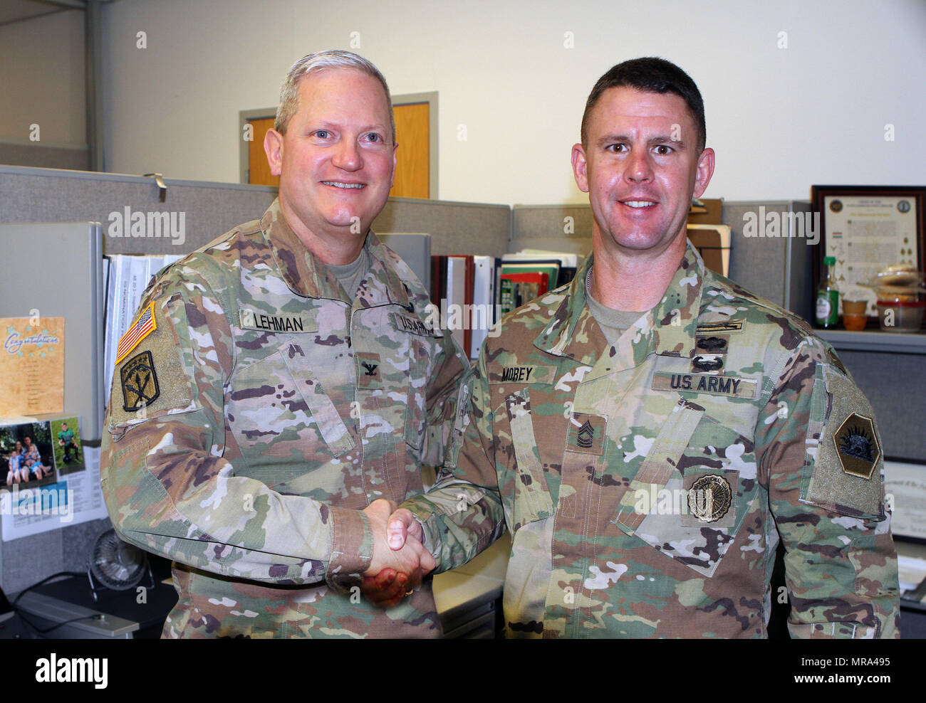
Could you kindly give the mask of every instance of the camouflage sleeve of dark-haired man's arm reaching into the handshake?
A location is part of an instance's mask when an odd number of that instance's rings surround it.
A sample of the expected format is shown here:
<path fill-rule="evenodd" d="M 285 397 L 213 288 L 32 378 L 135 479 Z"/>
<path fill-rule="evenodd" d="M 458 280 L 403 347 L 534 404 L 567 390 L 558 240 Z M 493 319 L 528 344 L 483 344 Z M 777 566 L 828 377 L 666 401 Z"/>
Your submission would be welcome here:
<path fill-rule="evenodd" d="M 483 347 L 479 365 L 460 383 L 454 423 L 455 437 L 462 438 L 458 456 L 451 448 L 434 486 L 400 506 L 423 525 L 425 546 L 437 561 L 435 572 L 465 564 L 505 530 L 484 353 Z"/>

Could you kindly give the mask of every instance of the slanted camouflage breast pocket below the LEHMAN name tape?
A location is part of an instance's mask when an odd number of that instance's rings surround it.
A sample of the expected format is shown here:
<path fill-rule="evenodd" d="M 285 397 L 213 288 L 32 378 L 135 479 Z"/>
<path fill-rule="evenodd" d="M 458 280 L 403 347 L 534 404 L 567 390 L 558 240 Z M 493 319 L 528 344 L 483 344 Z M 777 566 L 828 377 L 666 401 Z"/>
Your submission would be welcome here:
<path fill-rule="evenodd" d="M 305 475 L 354 448 L 354 439 L 300 345 L 236 369 L 227 420 L 251 475 L 269 487 Z"/>

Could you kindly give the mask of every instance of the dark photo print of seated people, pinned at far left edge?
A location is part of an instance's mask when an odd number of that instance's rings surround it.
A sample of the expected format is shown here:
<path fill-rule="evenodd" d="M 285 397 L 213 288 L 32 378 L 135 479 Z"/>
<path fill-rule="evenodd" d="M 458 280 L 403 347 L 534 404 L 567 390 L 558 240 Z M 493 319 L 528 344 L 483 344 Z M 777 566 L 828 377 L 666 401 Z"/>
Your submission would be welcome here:
<path fill-rule="evenodd" d="M 43 487 L 55 483 L 51 423 L 0 425 L 2 487 Z"/>

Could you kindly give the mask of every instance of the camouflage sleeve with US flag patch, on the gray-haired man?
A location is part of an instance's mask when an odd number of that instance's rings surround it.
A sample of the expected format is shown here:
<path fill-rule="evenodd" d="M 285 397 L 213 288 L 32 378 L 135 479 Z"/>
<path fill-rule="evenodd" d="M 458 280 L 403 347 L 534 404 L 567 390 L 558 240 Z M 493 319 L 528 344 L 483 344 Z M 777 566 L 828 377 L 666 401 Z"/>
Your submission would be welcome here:
<path fill-rule="evenodd" d="M 206 278 L 176 266 L 148 292 L 156 328 L 117 364 L 100 475 L 126 541 L 237 578 L 343 588 L 369 566 L 363 512 L 282 495 L 226 458 L 224 393 L 233 310 Z M 339 550 L 332 550 L 337 543 Z"/>

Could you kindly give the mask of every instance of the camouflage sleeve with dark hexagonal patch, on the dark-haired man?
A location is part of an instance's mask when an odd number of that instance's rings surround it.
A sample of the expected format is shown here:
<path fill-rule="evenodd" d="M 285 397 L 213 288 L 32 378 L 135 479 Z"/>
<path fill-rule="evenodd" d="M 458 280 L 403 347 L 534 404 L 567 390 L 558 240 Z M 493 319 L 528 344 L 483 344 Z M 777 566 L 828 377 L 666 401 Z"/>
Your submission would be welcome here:
<path fill-rule="evenodd" d="M 791 635 L 897 637 L 897 561 L 871 406 L 820 339 L 779 364 L 756 454 L 785 551 Z"/>

